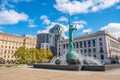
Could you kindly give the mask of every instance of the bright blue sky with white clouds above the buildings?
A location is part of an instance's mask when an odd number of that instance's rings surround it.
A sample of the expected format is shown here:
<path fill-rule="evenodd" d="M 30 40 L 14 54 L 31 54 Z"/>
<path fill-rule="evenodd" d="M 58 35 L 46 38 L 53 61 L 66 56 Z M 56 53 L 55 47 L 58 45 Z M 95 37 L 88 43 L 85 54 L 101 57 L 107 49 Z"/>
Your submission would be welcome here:
<path fill-rule="evenodd" d="M 105 30 L 120 37 L 120 0 L 0 0 L 0 32 L 37 35 L 55 24 L 68 36 L 68 22 L 76 25 L 73 36 Z"/>

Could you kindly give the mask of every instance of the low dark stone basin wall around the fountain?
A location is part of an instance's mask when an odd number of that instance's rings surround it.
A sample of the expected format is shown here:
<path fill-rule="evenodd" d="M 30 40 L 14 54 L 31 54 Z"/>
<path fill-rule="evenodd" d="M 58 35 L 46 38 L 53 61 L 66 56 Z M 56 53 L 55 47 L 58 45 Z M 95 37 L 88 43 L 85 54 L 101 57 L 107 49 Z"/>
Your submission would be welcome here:
<path fill-rule="evenodd" d="M 71 71 L 108 71 L 120 68 L 120 64 L 109 65 L 56 65 L 56 64 L 34 64 L 34 68 L 42 69 L 57 69 L 57 70 L 71 70 Z"/>

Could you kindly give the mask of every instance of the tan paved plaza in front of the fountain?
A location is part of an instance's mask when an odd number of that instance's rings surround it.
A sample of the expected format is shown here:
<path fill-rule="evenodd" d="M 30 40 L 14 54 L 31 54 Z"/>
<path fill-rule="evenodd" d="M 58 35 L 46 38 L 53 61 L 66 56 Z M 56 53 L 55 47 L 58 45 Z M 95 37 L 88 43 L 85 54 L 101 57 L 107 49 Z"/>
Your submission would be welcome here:
<path fill-rule="evenodd" d="M 120 80 L 120 69 L 93 71 L 62 71 L 35 68 L 0 68 L 0 80 Z"/>

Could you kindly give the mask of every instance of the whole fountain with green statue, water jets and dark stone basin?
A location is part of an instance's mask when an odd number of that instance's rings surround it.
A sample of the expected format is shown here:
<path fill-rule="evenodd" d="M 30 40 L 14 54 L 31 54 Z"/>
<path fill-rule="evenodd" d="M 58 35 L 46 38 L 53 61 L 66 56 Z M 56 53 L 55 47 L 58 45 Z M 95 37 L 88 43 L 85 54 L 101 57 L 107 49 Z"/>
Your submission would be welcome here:
<path fill-rule="evenodd" d="M 47 68 L 58 70 L 92 70 L 92 71 L 106 71 L 120 67 L 120 65 L 103 65 L 99 60 L 77 54 L 73 46 L 73 31 L 76 27 L 70 24 L 69 21 L 69 50 L 66 54 L 53 57 L 50 63 L 34 64 L 34 68 Z"/>

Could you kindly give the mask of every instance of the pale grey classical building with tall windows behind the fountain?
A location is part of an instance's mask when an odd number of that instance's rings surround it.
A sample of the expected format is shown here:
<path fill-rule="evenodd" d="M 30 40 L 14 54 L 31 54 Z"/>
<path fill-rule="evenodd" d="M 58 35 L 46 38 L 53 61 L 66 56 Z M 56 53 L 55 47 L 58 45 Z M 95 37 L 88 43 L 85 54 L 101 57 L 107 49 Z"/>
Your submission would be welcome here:
<path fill-rule="evenodd" d="M 120 58 L 120 41 L 105 31 L 85 34 L 74 38 L 74 47 L 79 55 L 98 59 L 103 63 L 117 63 Z M 57 55 L 68 52 L 68 39 L 60 40 Z"/>

